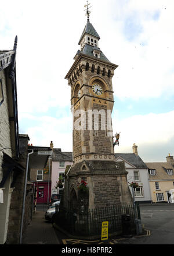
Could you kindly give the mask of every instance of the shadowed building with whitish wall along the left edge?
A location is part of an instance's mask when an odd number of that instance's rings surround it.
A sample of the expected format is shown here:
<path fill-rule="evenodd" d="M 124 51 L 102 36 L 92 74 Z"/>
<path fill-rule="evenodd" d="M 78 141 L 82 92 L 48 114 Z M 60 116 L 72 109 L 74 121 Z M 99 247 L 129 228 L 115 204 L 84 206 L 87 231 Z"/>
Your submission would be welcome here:
<path fill-rule="evenodd" d="M 0 51 L 0 244 L 19 243 L 26 176 L 28 135 L 19 135 L 16 48 L 17 36 L 13 50 Z M 30 192 L 26 202 L 30 208 Z M 26 209 L 24 223 L 29 219 Z"/>

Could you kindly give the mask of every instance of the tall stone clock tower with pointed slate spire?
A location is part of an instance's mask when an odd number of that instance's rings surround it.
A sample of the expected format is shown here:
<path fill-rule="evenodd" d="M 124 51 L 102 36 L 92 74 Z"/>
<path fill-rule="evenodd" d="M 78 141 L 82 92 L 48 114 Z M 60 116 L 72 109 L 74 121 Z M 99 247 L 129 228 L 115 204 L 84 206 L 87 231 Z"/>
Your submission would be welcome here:
<path fill-rule="evenodd" d="M 67 173 L 63 199 L 68 209 L 77 208 L 83 200 L 87 209 L 132 203 L 124 162 L 115 162 L 113 147 L 112 78 L 118 65 L 106 58 L 99 40 L 88 16 L 78 43 L 80 50 L 66 75 L 74 124 L 74 163 Z M 88 183 L 88 195 L 79 195 L 81 180 Z"/>

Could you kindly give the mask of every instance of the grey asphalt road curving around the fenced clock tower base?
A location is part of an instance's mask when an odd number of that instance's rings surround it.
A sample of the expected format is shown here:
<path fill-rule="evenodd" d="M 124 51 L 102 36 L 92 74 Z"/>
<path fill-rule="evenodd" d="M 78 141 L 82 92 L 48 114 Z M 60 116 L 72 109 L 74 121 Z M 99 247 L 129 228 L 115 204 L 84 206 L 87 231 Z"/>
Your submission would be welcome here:
<path fill-rule="evenodd" d="M 46 211 L 46 209 L 46 205 L 37 206 L 37 211 Z M 140 212 L 144 228 L 150 230 L 150 236 L 111 239 L 111 244 L 174 244 L 174 204 L 140 205 Z M 63 244 L 86 243 L 82 240 L 68 239 L 67 236 L 57 230 L 55 232 Z M 100 240 L 91 241 L 89 244 L 101 244 L 100 242 Z"/>

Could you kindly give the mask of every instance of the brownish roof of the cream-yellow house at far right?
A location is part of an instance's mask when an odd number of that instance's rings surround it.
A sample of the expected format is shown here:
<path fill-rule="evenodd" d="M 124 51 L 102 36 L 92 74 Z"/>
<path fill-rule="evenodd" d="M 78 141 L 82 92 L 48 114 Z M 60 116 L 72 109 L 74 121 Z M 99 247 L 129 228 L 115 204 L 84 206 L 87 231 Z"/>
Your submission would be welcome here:
<path fill-rule="evenodd" d="M 148 169 L 155 169 L 155 175 L 150 175 L 148 172 L 149 180 L 174 180 L 174 164 L 167 162 L 146 163 Z M 172 169 L 173 174 L 168 174 L 167 169 Z"/>

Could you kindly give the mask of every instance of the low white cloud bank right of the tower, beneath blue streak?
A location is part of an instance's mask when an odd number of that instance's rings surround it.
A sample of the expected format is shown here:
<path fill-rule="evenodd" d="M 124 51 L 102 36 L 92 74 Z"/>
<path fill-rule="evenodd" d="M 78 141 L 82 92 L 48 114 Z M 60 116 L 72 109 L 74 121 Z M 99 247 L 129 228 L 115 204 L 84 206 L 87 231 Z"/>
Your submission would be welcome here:
<path fill-rule="evenodd" d="M 132 145 L 136 143 L 142 152 L 142 158 L 144 157 L 146 161 L 150 161 L 151 156 L 153 159 L 163 159 L 162 153 L 164 151 L 168 153 L 168 150 L 172 150 L 171 154 L 174 155 L 171 145 L 174 137 L 173 116 L 174 111 L 170 111 L 162 114 L 134 115 L 121 121 L 117 118 L 113 119 L 113 132 L 121 132 L 120 144 L 118 148 L 115 146 L 115 152 L 128 153 L 130 150 L 132 152 Z"/>

